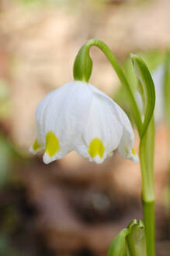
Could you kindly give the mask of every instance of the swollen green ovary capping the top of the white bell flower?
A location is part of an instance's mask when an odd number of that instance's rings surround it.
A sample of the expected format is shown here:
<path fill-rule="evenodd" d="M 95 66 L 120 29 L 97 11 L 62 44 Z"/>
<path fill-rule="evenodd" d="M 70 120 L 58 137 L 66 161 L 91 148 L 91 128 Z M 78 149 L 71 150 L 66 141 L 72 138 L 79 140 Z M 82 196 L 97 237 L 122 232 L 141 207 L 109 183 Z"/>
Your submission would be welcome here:
<path fill-rule="evenodd" d="M 88 82 L 92 73 L 92 59 L 89 56 L 89 45 L 84 44 L 75 58 L 73 73 L 75 80 Z"/>

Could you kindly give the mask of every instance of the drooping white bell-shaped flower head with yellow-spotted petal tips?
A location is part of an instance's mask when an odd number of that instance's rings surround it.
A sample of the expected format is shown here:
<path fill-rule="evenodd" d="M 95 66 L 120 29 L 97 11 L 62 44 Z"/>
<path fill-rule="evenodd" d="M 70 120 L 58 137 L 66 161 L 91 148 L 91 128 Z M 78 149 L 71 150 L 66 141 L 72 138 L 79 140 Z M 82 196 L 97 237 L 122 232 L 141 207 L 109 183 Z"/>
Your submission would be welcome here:
<path fill-rule="evenodd" d="M 44 150 L 44 163 L 72 150 L 102 163 L 116 148 L 123 158 L 138 162 L 127 115 L 91 84 L 72 81 L 47 94 L 36 108 L 36 126 L 37 137 L 30 151 Z"/>

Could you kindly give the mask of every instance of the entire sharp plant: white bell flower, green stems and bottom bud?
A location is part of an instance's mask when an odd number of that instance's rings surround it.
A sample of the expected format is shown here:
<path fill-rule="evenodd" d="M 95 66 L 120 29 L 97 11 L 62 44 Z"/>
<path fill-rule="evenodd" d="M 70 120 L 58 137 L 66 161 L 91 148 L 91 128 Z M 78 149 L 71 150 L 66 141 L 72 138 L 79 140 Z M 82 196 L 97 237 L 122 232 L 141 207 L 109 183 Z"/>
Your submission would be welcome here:
<path fill-rule="evenodd" d="M 141 140 L 142 202 L 144 223 L 133 220 L 122 229 L 109 247 L 108 256 L 154 256 L 154 84 L 147 66 L 131 55 L 140 84 L 141 108 L 135 99 L 123 69 L 105 43 L 91 39 L 82 45 L 74 63 L 74 81 L 50 91 L 36 108 L 36 140 L 30 151 L 44 151 L 48 164 L 64 158 L 70 151 L 89 161 L 102 163 L 118 149 L 120 156 L 138 162 L 134 151 L 134 131 L 127 114 L 109 96 L 88 80 L 92 73 L 89 49 L 102 50 L 126 89 L 127 102 Z M 142 112 L 142 115 L 141 115 Z"/>

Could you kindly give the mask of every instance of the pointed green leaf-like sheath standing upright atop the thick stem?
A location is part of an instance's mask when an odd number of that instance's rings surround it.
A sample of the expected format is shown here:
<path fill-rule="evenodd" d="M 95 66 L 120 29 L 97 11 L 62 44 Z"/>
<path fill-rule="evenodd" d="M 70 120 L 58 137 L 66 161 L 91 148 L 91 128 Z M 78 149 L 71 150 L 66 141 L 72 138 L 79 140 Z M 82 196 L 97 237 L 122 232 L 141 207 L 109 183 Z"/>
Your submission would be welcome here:
<path fill-rule="evenodd" d="M 140 134 L 141 137 L 143 137 L 154 112 L 154 82 L 152 80 L 151 73 L 149 72 L 149 69 L 147 69 L 147 66 L 144 63 L 144 61 L 139 56 L 133 54 L 131 54 L 131 59 L 134 65 L 137 80 L 139 82 L 139 91 L 141 93 L 141 98 L 143 101 L 144 120 L 142 124 L 142 132 Z"/>

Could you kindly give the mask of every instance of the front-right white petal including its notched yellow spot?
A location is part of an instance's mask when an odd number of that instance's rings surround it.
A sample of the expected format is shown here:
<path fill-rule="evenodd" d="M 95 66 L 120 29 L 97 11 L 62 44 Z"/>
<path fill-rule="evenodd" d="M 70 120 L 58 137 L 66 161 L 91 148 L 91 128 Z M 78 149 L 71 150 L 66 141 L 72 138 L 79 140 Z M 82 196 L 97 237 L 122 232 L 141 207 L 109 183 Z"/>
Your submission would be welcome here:
<path fill-rule="evenodd" d="M 92 90 L 91 85 L 90 88 Z M 117 148 L 122 134 L 123 126 L 112 99 L 102 92 L 98 94 L 93 91 L 85 130 L 82 133 L 82 139 L 75 145 L 75 150 L 90 161 L 102 163 L 110 152 Z M 97 151 L 90 154 L 90 145 L 93 142 L 94 147 L 99 147 L 98 154 L 96 154 Z"/>

